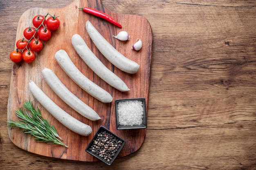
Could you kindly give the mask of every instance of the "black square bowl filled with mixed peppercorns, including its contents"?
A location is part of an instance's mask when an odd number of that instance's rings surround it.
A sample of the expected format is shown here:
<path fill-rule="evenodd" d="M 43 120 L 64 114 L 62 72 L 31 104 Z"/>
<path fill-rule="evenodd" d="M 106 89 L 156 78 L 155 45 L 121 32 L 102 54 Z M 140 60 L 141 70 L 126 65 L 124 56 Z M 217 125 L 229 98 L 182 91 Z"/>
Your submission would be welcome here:
<path fill-rule="evenodd" d="M 110 144 L 111 142 L 113 143 L 112 146 Z M 100 145 L 102 143 L 104 144 L 103 149 L 101 149 Z M 110 166 L 121 152 L 125 143 L 126 141 L 124 139 L 115 135 L 104 126 L 100 126 L 91 142 L 86 147 L 85 152 L 93 155 L 94 157 L 97 157 L 99 160 Z"/>

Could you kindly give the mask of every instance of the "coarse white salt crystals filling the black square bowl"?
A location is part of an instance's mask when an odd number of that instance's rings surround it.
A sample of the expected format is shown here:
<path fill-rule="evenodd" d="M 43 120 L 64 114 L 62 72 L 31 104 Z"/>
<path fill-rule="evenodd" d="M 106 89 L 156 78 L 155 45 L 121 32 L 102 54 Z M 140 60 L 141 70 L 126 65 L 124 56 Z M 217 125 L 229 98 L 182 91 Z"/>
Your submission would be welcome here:
<path fill-rule="evenodd" d="M 132 126 L 142 124 L 143 104 L 142 101 L 125 101 L 118 103 L 119 124 Z"/>

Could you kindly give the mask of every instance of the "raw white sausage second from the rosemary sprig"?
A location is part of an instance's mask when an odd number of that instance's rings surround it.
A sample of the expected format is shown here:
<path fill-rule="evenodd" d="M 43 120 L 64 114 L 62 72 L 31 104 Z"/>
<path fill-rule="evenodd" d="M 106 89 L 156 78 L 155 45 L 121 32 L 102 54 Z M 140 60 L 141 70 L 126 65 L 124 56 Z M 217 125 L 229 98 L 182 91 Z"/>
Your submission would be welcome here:
<path fill-rule="evenodd" d="M 92 121 L 101 119 L 96 111 L 70 92 L 51 69 L 45 68 L 42 74 L 49 87 L 72 109 Z"/>

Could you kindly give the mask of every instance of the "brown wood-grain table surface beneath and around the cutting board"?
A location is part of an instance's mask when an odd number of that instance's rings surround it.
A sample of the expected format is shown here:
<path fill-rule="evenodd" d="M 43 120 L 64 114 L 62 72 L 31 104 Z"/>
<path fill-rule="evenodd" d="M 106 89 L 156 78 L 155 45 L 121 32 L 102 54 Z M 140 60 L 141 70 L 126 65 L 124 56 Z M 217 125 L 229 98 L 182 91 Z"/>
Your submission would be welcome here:
<path fill-rule="evenodd" d="M 115 160 L 70 161 L 29 153 L 7 132 L 16 28 L 33 7 L 72 0 L 0 2 L 0 169 L 256 169 L 256 1 L 102 0 L 153 29 L 148 128 L 141 148 Z"/>

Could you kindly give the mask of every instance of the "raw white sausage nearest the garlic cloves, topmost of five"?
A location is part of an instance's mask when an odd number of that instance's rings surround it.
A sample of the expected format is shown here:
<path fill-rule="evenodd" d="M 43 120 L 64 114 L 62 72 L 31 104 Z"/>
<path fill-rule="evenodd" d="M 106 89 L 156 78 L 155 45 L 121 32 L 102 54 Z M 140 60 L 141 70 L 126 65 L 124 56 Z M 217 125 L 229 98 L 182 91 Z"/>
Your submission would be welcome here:
<path fill-rule="evenodd" d="M 93 43 L 99 51 L 117 68 L 120 70 L 134 74 L 139 70 L 139 64 L 126 58 L 123 54 L 117 51 L 98 31 L 90 21 L 86 22 L 86 30 L 91 37 Z"/>

